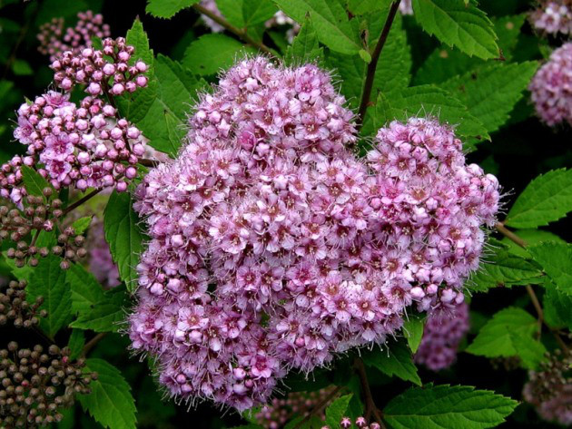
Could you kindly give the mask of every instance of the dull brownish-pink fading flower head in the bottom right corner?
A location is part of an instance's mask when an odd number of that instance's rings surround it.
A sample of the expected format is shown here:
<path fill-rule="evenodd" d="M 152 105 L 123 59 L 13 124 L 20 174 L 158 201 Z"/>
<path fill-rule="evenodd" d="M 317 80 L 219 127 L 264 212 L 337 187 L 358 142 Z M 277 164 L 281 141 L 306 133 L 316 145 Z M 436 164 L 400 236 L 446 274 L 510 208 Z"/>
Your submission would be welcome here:
<path fill-rule="evenodd" d="M 535 406 L 537 413 L 549 422 L 572 424 L 572 378 L 569 375 L 572 356 L 569 351 L 547 356 L 538 371 L 529 373 L 523 397 Z"/>

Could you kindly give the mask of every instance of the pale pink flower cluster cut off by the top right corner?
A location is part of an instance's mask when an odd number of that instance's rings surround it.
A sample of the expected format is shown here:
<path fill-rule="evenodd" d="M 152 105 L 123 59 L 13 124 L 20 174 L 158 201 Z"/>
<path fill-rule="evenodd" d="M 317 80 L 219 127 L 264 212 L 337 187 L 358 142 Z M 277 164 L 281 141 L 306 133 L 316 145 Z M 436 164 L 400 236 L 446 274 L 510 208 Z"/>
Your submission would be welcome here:
<path fill-rule="evenodd" d="M 542 0 L 530 15 L 532 25 L 548 34 L 572 33 L 572 0 Z"/>

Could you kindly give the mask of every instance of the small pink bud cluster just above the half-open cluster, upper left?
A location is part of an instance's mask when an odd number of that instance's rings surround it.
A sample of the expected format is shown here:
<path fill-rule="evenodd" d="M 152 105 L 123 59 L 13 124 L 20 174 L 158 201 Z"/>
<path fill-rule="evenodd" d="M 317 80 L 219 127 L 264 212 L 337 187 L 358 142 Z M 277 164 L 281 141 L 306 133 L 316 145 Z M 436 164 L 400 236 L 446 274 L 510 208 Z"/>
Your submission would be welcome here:
<path fill-rule="evenodd" d="M 108 90 L 113 95 L 133 93 L 147 86 L 147 64 L 137 61 L 129 65 L 135 51 L 123 37 L 107 38 L 102 51 L 85 48 L 81 54 L 64 52 L 52 63 L 54 82 L 64 91 L 70 91 L 78 83 L 85 84 L 85 92 L 97 96 Z M 109 57 L 105 58 L 105 56 Z"/>

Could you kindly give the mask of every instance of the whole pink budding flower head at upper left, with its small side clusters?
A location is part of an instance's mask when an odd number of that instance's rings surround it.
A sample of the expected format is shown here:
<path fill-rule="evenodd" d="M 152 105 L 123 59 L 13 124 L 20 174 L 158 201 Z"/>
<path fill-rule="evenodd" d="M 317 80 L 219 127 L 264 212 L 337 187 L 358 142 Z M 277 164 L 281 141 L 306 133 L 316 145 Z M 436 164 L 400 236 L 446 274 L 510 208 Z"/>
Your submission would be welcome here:
<path fill-rule="evenodd" d="M 98 96 L 107 93 L 113 97 L 125 90 L 131 93 L 147 84 L 145 63 L 127 65 L 133 49 L 123 38 L 105 39 L 104 52 L 85 48 L 74 55 L 67 51 L 54 61 L 54 79 L 64 93 L 50 91 L 18 109 L 14 136 L 27 151 L 24 157 L 16 156 L 1 167 L 1 197 L 16 203 L 22 200 L 23 163 L 35 167 L 55 189 L 127 190 L 145 152 L 143 135 Z M 104 59 L 104 53 L 112 62 Z M 69 101 L 77 84 L 87 85 L 85 91 L 90 94 L 79 105 Z"/>

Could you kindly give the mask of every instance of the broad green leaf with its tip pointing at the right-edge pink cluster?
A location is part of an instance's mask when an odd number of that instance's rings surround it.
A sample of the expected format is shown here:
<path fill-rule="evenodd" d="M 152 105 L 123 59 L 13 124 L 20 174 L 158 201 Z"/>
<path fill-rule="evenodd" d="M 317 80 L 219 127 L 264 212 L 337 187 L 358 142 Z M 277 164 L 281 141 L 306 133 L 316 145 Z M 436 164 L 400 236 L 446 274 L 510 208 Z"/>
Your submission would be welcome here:
<path fill-rule="evenodd" d="M 522 98 L 537 62 L 495 63 L 439 85 L 468 107 L 487 131 L 496 132 Z"/>

